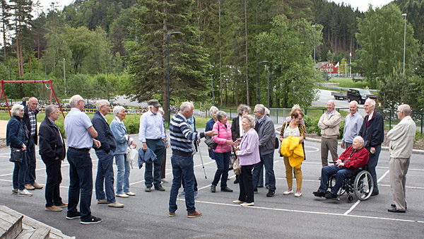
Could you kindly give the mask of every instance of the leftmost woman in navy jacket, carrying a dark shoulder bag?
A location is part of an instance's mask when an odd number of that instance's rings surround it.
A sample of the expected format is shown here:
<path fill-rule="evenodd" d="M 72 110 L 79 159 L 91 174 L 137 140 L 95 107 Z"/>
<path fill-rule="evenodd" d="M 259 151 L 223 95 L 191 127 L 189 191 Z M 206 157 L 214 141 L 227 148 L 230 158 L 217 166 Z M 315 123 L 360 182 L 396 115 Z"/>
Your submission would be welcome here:
<path fill-rule="evenodd" d="M 28 144 L 28 129 L 23 123 L 23 105 L 15 104 L 12 107 L 12 117 L 7 123 L 6 145 L 12 148 L 20 148 L 23 153 L 22 162 L 15 162 L 13 169 L 13 194 L 18 196 L 33 196 L 25 189 L 25 175 L 27 170 L 26 144 Z"/>

